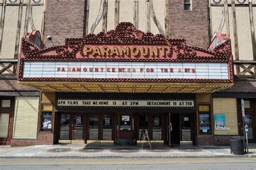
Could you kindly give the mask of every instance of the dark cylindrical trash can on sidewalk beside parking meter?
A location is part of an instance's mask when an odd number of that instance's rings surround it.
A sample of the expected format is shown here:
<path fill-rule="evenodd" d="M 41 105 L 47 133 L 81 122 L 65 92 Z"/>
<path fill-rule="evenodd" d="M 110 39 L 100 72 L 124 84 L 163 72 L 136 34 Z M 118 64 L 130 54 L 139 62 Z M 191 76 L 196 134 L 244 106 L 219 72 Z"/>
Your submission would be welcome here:
<path fill-rule="evenodd" d="M 230 152 L 235 155 L 245 154 L 244 137 L 232 137 L 230 139 Z"/>

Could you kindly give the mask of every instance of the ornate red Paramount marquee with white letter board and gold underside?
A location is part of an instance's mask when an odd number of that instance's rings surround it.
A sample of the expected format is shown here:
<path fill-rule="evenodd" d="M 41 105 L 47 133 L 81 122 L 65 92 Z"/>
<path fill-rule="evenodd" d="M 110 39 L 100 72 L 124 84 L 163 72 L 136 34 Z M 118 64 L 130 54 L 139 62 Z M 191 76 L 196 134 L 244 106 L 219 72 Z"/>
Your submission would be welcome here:
<path fill-rule="evenodd" d="M 33 31 L 22 39 L 18 80 L 44 91 L 98 92 L 87 86 L 90 82 L 102 92 L 108 91 L 104 90 L 104 82 L 112 83 L 115 87 L 111 88 L 117 92 L 120 83 L 151 83 L 148 91 L 154 89 L 156 84 L 152 83 L 167 83 L 163 89 L 181 83 L 181 90 L 193 86 L 194 92 L 233 84 L 230 39 L 205 50 L 187 46 L 184 39 L 144 33 L 131 23 L 120 23 L 115 30 L 98 35 L 68 38 L 65 45 L 49 48 L 45 48 L 40 36 Z M 75 85 L 79 87 L 73 89 Z M 131 92 L 137 92 L 136 88 Z"/>

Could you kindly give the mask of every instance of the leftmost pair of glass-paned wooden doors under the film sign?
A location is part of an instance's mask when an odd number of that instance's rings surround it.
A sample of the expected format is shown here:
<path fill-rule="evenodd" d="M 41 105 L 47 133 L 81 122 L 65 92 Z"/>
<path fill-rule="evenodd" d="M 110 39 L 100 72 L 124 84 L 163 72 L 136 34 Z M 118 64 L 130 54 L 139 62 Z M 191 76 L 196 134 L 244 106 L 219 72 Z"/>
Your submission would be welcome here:
<path fill-rule="evenodd" d="M 83 140 L 83 114 L 65 113 L 60 114 L 59 139 L 60 140 Z"/>

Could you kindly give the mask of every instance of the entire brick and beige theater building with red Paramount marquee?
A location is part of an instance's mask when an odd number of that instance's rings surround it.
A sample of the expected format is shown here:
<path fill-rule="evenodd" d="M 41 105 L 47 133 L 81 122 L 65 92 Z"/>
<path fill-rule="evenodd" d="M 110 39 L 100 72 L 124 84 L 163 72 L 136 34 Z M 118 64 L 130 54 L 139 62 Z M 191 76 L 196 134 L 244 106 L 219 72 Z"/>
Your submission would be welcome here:
<path fill-rule="evenodd" d="M 0 1 L 0 145 L 255 142 L 255 3 Z"/>

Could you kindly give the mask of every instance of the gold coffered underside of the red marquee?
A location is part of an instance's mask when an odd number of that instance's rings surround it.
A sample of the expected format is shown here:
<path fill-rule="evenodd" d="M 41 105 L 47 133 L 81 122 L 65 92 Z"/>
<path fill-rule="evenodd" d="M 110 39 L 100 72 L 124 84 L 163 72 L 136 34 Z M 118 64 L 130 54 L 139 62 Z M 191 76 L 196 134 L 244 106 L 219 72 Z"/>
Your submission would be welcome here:
<path fill-rule="evenodd" d="M 126 83 L 22 81 L 24 85 L 46 92 L 125 92 L 125 93 L 210 93 L 226 89 L 233 83 Z"/>

